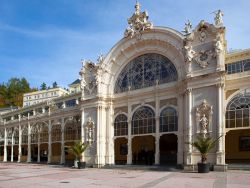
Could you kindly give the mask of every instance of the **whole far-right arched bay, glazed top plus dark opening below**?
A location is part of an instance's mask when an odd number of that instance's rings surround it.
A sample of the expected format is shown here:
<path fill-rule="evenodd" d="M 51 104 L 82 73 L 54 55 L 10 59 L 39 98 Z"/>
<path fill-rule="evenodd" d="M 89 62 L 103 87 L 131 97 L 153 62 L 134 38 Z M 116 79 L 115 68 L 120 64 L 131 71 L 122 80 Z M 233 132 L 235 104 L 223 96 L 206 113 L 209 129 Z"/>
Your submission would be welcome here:
<path fill-rule="evenodd" d="M 226 109 L 226 163 L 250 162 L 250 89 L 234 96 Z"/>

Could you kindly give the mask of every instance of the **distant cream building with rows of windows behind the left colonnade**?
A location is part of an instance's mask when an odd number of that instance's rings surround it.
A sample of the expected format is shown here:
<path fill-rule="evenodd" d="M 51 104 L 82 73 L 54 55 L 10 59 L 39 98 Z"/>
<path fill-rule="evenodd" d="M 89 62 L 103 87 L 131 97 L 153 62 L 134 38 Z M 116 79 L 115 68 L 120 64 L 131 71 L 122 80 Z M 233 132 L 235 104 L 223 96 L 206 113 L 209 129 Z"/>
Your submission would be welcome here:
<path fill-rule="evenodd" d="M 59 87 L 25 93 L 23 95 L 23 107 L 45 102 L 67 94 L 68 91 Z"/>

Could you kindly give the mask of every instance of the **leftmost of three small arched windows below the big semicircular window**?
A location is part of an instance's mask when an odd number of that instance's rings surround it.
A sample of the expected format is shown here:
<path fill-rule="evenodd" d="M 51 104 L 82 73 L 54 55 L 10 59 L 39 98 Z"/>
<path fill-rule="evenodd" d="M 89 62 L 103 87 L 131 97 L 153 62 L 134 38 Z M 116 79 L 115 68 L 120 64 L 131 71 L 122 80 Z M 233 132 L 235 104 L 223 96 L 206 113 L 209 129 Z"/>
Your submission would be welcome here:
<path fill-rule="evenodd" d="M 119 114 L 115 118 L 115 136 L 126 136 L 128 135 L 128 118 L 124 114 Z"/>

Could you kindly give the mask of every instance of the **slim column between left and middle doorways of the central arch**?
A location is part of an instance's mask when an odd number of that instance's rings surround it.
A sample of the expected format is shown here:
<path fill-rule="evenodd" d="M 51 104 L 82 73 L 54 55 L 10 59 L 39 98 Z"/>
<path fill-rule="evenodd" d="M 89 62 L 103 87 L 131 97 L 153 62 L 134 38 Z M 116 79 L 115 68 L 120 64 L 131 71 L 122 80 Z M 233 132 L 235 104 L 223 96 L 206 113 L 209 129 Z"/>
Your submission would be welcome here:
<path fill-rule="evenodd" d="M 127 164 L 132 164 L 132 112 L 131 104 L 128 102 L 128 154 L 127 154 Z"/>

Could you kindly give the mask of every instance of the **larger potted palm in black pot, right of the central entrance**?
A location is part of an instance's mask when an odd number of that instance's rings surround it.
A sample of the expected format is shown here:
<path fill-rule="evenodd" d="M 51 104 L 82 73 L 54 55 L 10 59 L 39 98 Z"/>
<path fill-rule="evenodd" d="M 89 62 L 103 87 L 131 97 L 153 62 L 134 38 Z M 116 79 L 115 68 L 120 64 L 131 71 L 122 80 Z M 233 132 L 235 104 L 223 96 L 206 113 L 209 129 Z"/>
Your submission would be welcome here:
<path fill-rule="evenodd" d="M 197 164 L 198 173 L 209 172 L 210 164 L 207 163 L 207 155 L 208 155 L 208 152 L 215 147 L 215 144 L 220 139 L 220 137 L 218 137 L 217 139 L 214 139 L 210 136 L 208 137 L 198 136 L 194 142 L 189 143 L 193 147 L 195 147 L 201 154 L 201 162 Z"/>

